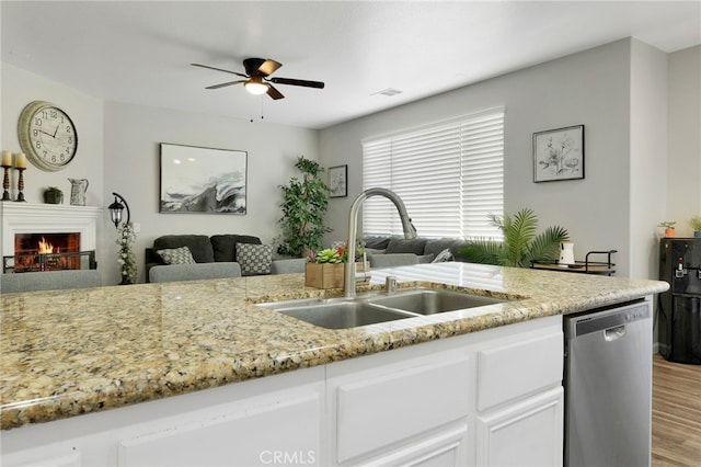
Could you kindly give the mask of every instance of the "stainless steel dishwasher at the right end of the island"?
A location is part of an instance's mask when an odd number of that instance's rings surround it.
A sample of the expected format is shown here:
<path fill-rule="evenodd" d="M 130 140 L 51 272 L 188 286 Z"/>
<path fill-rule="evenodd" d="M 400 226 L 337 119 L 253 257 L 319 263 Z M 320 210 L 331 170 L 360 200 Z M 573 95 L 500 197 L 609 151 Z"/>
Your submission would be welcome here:
<path fill-rule="evenodd" d="M 564 317 L 568 467 L 651 463 L 652 306 Z"/>

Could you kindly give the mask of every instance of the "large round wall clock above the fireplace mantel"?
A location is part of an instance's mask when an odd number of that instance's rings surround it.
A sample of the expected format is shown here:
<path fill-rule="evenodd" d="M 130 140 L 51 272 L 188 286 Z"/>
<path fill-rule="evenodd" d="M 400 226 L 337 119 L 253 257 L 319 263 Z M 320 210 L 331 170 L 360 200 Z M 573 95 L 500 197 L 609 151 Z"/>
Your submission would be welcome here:
<path fill-rule="evenodd" d="M 49 172 L 66 168 L 78 149 L 73 122 L 50 102 L 34 101 L 24 107 L 20 114 L 18 137 L 30 161 Z"/>

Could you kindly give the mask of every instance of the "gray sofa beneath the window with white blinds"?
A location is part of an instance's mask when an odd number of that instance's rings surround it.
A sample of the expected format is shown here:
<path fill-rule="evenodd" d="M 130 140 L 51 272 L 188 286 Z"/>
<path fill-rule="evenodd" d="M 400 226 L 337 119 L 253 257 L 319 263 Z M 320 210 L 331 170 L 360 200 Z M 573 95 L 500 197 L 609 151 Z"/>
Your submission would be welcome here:
<path fill-rule="evenodd" d="M 371 269 L 462 261 L 458 250 L 468 244 L 467 240 L 456 238 L 406 240 L 401 236 L 365 236 L 361 240 Z"/>

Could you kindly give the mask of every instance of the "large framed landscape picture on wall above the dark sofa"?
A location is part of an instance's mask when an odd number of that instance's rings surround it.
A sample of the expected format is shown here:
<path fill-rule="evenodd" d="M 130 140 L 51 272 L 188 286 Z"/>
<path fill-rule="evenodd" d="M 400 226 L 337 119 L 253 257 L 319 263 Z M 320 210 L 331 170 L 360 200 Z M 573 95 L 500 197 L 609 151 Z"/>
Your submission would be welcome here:
<path fill-rule="evenodd" d="M 248 152 L 160 144 L 159 213 L 246 214 Z"/>

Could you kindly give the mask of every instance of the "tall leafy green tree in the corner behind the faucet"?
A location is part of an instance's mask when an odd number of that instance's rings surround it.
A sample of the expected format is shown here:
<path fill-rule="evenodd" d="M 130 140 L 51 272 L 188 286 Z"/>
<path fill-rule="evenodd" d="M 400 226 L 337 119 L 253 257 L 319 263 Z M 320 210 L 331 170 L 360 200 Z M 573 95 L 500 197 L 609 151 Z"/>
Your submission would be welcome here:
<path fill-rule="evenodd" d="M 300 156 L 295 167 L 301 180 L 292 176 L 283 191 L 283 228 L 277 252 L 290 257 L 303 257 L 308 250 L 321 249 L 324 234 L 331 231 L 323 224 L 329 207 L 329 186 L 321 180 L 323 168 L 313 160 Z"/>

